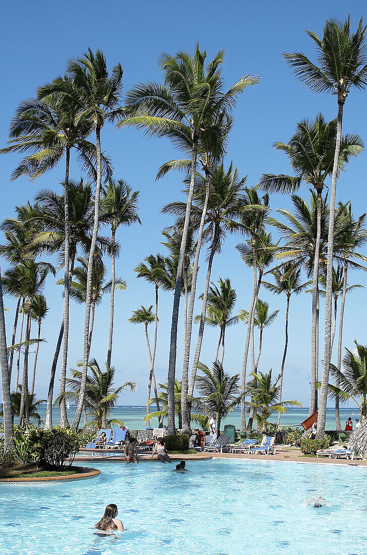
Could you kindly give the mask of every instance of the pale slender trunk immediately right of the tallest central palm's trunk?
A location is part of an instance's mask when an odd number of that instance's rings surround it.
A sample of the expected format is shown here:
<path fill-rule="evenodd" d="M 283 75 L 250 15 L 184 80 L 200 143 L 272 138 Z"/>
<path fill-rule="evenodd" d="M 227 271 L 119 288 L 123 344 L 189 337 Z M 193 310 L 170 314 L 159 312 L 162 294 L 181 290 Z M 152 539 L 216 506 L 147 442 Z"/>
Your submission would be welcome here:
<path fill-rule="evenodd" d="M 193 273 L 192 273 L 192 280 L 191 280 L 190 302 L 189 302 L 189 312 L 188 312 L 186 333 L 185 333 L 184 360 L 183 360 L 182 382 L 181 382 L 182 426 L 183 426 L 183 431 L 185 433 L 191 432 L 190 421 L 189 421 L 190 419 L 189 419 L 189 410 L 188 410 L 188 400 L 187 400 L 190 345 L 191 345 L 191 333 L 192 333 L 192 326 L 193 326 L 196 282 L 197 282 L 198 271 L 199 271 L 199 256 L 200 256 L 200 250 L 202 248 L 202 242 L 203 242 L 203 231 L 204 231 L 205 218 L 207 216 L 209 191 L 210 191 L 209 172 L 206 171 L 205 172 L 205 200 L 204 200 L 204 206 L 202 211 L 202 217 L 200 219 L 198 240 L 197 240 L 197 246 L 195 251 L 194 266 L 193 266 Z"/>

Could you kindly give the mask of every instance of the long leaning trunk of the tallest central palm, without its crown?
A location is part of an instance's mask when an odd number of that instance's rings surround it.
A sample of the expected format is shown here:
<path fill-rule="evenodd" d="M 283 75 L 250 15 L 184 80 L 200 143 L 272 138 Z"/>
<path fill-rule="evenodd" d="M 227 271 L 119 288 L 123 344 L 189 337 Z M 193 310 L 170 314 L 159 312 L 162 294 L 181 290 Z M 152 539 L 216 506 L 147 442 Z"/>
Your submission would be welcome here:
<path fill-rule="evenodd" d="M 176 283 L 173 296 L 173 310 L 172 310 L 172 325 L 170 334 L 170 346 L 169 346 L 169 362 L 168 362 L 168 407 L 167 407 L 167 418 L 168 418 L 168 433 L 170 435 L 175 433 L 175 421 L 174 421 L 174 380 L 176 371 L 176 354 L 177 354 L 177 325 L 178 325 L 178 311 L 180 305 L 180 295 L 181 295 L 181 283 L 182 283 L 182 269 L 184 256 L 186 251 L 187 237 L 190 225 L 190 212 L 191 205 L 194 195 L 194 185 L 195 185 L 195 174 L 196 174 L 196 162 L 198 154 L 198 140 L 199 137 L 193 134 L 193 150 L 191 159 L 191 180 L 190 189 L 187 198 L 185 222 L 182 232 L 182 240 L 180 245 L 180 253 L 178 257 L 177 265 L 177 275 Z"/>

